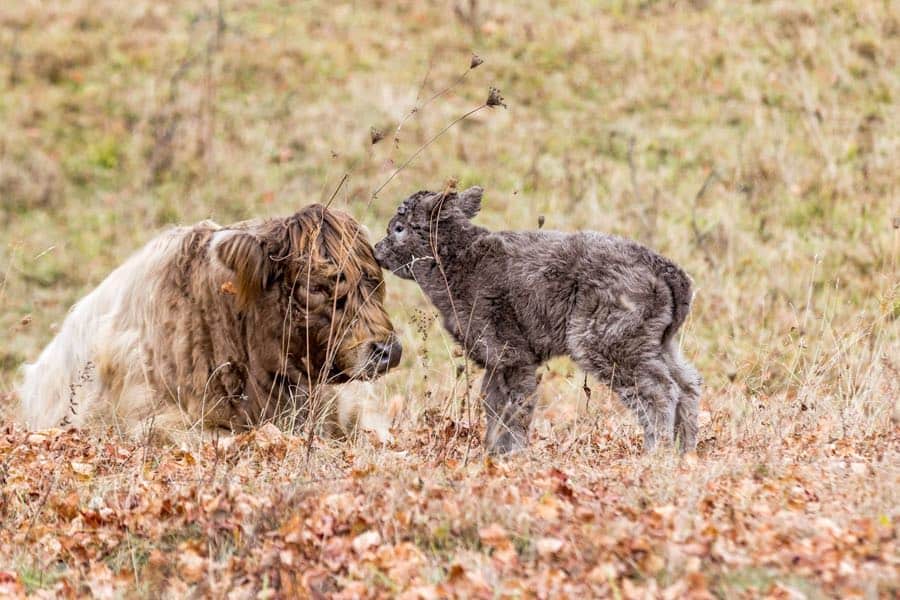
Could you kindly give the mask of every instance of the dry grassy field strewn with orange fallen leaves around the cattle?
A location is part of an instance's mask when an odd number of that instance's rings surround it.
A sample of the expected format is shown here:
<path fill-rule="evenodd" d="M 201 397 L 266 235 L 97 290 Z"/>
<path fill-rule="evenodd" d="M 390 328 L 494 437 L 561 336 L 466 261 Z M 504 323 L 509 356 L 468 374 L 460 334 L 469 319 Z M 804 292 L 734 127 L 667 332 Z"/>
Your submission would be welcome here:
<path fill-rule="evenodd" d="M 4 2 L 0 595 L 895 597 L 898 57 L 887 0 Z M 373 198 L 489 86 L 507 109 Z M 486 226 L 543 217 L 682 264 L 697 454 L 643 455 L 558 360 L 532 448 L 486 460 L 477 381 L 391 277 L 386 447 L 9 421 L 17 367 L 157 231 L 287 214 L 345 174 L 335 205 L 376 239 L 455 177 L 485 187 Z"/>

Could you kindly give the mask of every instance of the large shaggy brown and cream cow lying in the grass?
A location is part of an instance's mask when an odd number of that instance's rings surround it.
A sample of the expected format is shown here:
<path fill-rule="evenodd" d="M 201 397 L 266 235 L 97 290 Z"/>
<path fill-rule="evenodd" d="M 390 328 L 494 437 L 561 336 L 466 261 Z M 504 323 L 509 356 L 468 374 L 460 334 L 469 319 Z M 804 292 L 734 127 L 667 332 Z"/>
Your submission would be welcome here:
<path fill-rule="evenodd" d="M 72 308 L 25 366 L 20 417 L 172 440 L 303 416 L 318 384 L 397 365 L 383 300 L 372 247 L 344 213 L 174 228 Z M 326 414 L 344 425 L 365 418 L 338 404 Z"/>

